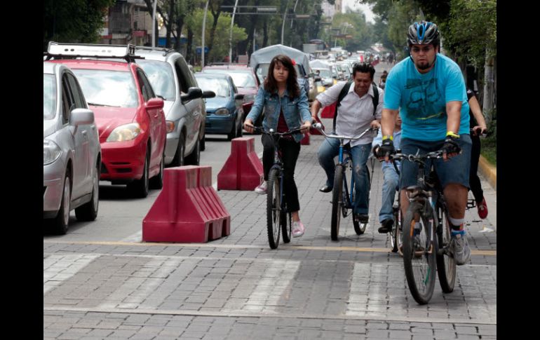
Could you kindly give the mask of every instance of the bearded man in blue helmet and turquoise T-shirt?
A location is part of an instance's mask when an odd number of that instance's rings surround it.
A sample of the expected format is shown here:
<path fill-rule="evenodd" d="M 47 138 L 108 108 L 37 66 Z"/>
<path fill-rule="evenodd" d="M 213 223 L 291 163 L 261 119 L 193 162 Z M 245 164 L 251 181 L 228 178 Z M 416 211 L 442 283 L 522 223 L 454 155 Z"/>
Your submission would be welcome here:
<path fill-rule="evenodd" d="M 471 165 L 465 81 L 459 66 L 439 54 L 440 34 L 433 22 L 410 25 L 407 44 L 410 58 L 396 64 L 386 79 L 381 121 L 384 137 L 377 156 L 388 161 L 389 154 L 394 152 L 391 136 L 398 112 L 403 121 L 403 154 L 443 151 L 443 159 L 433 164 L 448 205 L 454 259 L 459 265 L 465 264 L 471 256 L 464 231 Z M 416 185 L 418 165 L 404 161 L 401 167 L 400 189 Z M 405 190 L 400 195 L 405 215 L 409 200 Z"/>

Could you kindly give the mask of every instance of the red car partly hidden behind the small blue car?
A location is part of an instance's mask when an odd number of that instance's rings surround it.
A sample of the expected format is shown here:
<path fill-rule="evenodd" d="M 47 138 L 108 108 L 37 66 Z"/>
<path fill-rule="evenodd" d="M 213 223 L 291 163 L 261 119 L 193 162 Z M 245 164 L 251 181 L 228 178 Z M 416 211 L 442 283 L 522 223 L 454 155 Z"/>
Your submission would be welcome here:
<path fill-rule="evenodd" d="M 255 96 L 259 90 L 259 78 L 253 72 L 252 67 L 246 64 L 210 64 L 203 67 L 203 73 L 221 73 L 229 74 L 234 81 L 234 85 L 238 88 L 238 93 L 244 95 L 244 111 L 242 123 L 246 116 L 250 113 Z"/>

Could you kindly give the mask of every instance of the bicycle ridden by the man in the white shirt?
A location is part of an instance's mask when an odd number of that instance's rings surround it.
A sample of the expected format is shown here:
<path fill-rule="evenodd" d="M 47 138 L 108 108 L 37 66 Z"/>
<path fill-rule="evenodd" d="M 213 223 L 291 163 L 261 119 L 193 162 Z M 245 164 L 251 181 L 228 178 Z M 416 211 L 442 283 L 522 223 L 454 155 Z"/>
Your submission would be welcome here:
<path fill-rule="evenodd" d="M 359 140 L 363 135 L 365 135 L 367 132 L 375 132 L 377 133 L 377 128 L 367 128 L 365 129 L 358 137 L 347 137 L 347 136 L 339 136 L 339 135 L 327 135 L 324 130 L 322 130 L 321 125 L 319 123 L 316 123 L 313 125 L 314 128 L 317 128 L 320 130 L 320 132 L 325 135 L 327 138 L 336 138 L 339 140 L 339 156 L 338 161 L 335 167 L 335 175 L 334 175 L 334 184 L 332 189 L 332 222 L 330 224 L 330 237 L 332 240 L 337 241 L 337 236 L 339 235 L 339 223 L 341 222 L 341 217 L 347 217 L 351 215 L 351 212 L 353 212 L 354 208 L 354 200 L 356 196 L 356 189 L 355 189 L 355 176 L 351 175 L 351 192 L 349 193 L 349 186 L 347 186 L 347 176 L 346 176 L 346 170 L 349 169 L 353 170 L 353 159 L 351 158 L 351 152 L 350 147 L 346 147 L 344 145 L 344 140 Z M 370 165 L 371 165 L 371 172 L 373 174 L 373 169 L 375 165 L 376 158 L 371 157 L 370 158 Z M 370 170 L 367 167 L 367 163 L 365 165 L 365 172 L 367 175 L 367 182 L 368 187 L 366 188 L 368 195 L 367 195 L 367 206 L 370 205 L 370 196 L 371 196 L 371 177 L 370 176 Z M 362 235 L 365 232 L 365 228 L 367 227 L 367 221 L 357 221 L 356 219 L 353 219 L 353 226 L 354 231 L 356 232 L 356 235 Z"/>

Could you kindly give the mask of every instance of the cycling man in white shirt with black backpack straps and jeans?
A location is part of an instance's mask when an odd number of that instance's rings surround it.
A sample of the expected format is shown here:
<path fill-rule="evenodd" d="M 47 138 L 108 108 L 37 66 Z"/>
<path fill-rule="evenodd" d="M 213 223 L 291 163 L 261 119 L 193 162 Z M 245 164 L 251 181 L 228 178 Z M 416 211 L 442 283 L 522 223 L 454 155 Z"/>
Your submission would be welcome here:
<path fill-rule="evenodd" d="M 336 102 L 334 114 L 334 132 L 336 135 L 358 136 L 367 128 L 380 128 L 384 91 L 373 83 L 374 67 L 367 63 L 354 64 L 353 81 L 340 81 L 323 93 L 320 93 L 311 105 L 311 116 L 317 118 L 321 107 Z M 356 199 L 353 217 L 356 221 L 367 223 L 367 198 L 369 186 L 365 163 L 370 156 L 374 134 L 366 133 L 359 140 L 348 141 L 353 159 Z M 326 183 L 319 191 L 328 193 L 334 186 L 334 158 L 339 152 L 339 140 L 326 139 L 320 144 L 318 161 L 326 172 Z"/>

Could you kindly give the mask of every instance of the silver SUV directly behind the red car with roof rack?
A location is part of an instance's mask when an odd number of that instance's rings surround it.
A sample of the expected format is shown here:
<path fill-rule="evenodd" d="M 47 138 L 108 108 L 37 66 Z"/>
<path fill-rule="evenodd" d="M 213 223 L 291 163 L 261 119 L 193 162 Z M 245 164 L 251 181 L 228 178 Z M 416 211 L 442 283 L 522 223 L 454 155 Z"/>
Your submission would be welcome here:
<path fill-rule="evenodd" d="M 136 62 L 144 69 L 156 95 L 165 102 L 165 165 L 198 165 L 201 151 L 205 149 L 203 98 L 207 95 L 201 97 L 198 93 L 200 89 L 193 73 L 184 57 L 175 50 L 137 46 L 135 55 L 144 57 Z"/>

